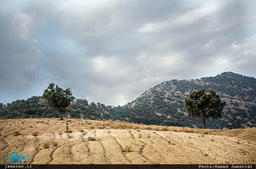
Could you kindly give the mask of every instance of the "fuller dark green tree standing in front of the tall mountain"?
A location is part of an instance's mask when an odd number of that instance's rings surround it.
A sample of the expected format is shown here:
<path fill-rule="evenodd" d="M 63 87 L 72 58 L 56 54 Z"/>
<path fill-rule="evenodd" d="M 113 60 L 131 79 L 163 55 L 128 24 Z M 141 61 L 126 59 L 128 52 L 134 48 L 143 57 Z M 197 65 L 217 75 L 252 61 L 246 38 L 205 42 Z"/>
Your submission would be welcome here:
<path fill-rule="evenodd" d="M 187 112 L 191 116 L 201 117 L 204 128 L 206 128 L 207 118 L 221 118 L 225 105 L 226 103 L 222 102 L 216 91 L 212 89 L 209 89 L 209 93 L 205 93 L 204 89 L 194 90 L 189 93 L 189 98 L 185 99 Z"/>

